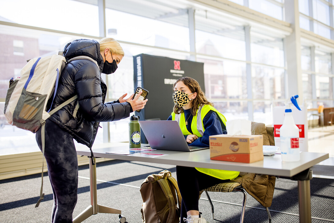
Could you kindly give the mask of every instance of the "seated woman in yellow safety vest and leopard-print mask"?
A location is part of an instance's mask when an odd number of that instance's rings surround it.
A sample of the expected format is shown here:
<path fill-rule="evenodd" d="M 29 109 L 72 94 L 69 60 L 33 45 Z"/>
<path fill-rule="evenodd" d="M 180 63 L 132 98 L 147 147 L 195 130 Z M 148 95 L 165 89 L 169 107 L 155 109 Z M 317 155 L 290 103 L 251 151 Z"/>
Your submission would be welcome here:
<path fill-rule="evenodd" d="M 174 111 L 168 120 L 178 121 L 189 145 L 208 146 L 209 136 L 226 134 L 225 117 L 209 102 L 199 83 L 182 77 L 174 84 Z M 207 223 L 198 211 L 199 192 L 228 182 L 239 175 L 236 171 L 176 166 L 177 183 L 182 196 L 181 221 Z"/>

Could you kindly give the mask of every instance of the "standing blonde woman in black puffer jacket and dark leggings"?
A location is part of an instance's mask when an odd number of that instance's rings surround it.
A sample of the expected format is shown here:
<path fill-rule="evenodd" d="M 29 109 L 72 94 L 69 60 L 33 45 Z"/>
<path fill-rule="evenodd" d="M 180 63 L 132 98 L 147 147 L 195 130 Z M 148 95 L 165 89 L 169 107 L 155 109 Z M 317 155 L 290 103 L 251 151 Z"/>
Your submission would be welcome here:
<path fill-rule="evenodd" d="M 100 44 L 101 43 L 101 44 Z M 77 99 L 55 112 L 46 120 L 44 156 L 53 190 L 52 223 L 72 222 L 72 213 L 77 201 L 78 164 L 73 139 L 92 148 L 99 122 L 109 122 L 129 117 L 130 112 L 143 109 L 146 101 L 124 99 L 105 103 L 107 86 L 101 73 L 111 74 L 121 62 L 124 51 L 113 38 L 96 40 L 77 39 L 64 48 L 68 62 L 61 72 L 58 90 L 52 109 L 77 95 Z M 92 59 L 92 60 L 91 60 Z M 49 109 L 49 108 L 48 108 Z M 36 133 L 41 145 L 41 130 Z"/>

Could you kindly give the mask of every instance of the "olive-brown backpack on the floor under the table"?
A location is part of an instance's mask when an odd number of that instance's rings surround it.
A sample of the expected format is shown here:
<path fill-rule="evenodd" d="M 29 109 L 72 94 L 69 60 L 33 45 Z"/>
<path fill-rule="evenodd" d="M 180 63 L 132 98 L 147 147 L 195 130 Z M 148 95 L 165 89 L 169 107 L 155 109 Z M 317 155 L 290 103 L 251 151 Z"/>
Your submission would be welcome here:
<path fill-rule="evenodd" d="M 170 171 L 149 175 L 142 183 L 140 193 L 143 223 L 180 222 L 181 194 Z"/>

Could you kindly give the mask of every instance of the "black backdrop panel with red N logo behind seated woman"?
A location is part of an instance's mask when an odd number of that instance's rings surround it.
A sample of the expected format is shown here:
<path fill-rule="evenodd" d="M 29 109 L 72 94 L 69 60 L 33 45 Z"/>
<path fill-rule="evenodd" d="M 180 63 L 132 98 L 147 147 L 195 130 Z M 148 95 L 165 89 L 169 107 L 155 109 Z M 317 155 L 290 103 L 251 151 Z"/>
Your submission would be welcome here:
<path fill-rule="evenodd" d="M 180 77 L 191 77 L 204 89 L 203 63 L 139 54 L 133 57 L 134 85 L 149 91 L 140 120 L 167 120 L 173 111 L 173 85 Z"/>

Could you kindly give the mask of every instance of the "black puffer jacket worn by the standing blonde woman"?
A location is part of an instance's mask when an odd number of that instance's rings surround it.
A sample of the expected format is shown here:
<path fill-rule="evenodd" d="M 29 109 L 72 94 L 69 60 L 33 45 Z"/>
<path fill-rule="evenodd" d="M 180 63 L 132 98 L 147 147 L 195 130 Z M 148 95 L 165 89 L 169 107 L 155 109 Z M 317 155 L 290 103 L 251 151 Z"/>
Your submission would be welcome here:
<path fill-rule="evenodd" d="M 100 44 L 96 40 L 74 40 L 65 46 L 63 55 L 66 61 L 85 55 L 93 58 L 99 67 L 90 60 L 74 60 L 65 65 L 52 108 L 75 95 L 78 95 L 78 98 L 55 112 L 49 119 L 69 132 L 76 141 L 91 148 L 99 122 L 129 117 L 131 105 L 119 101 L 104 104 L 107 86 L 101 79 L 104 62 L 100 54 Z M 73 117 L 77 103 L 79 109 Z"/>

